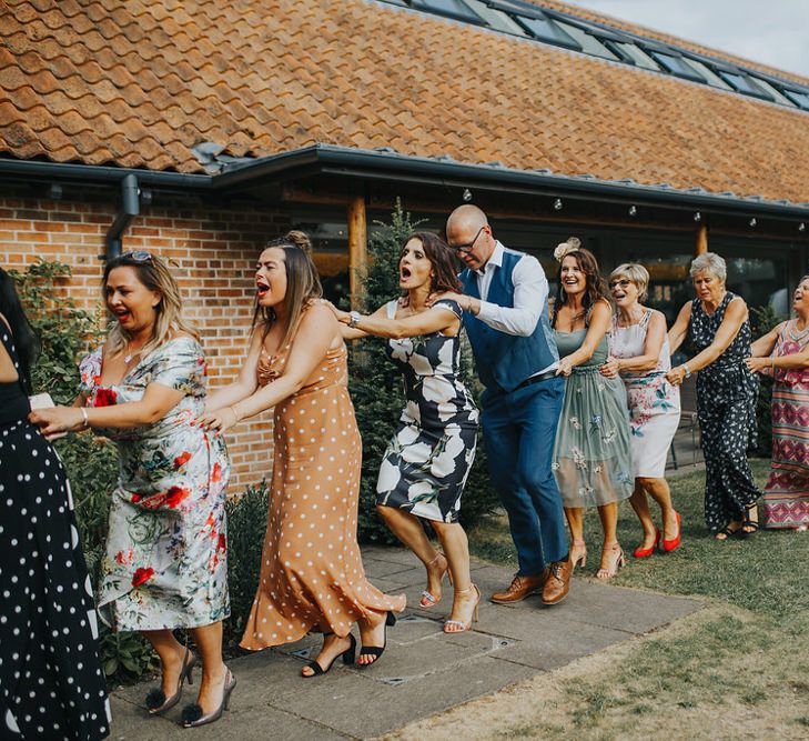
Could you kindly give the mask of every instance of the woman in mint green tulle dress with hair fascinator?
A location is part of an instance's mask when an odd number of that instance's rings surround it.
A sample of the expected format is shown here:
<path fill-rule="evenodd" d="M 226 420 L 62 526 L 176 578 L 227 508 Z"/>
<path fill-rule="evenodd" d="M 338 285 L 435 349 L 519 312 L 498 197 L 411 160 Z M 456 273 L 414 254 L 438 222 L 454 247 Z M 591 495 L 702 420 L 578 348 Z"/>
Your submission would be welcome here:
<path fill-rule="evenodd" d="M 634 487 L 624 383 L 599 373 L 609 354 L 607 332 L 613 311 L 591 252 L 570 238 L 555 256 L 560 267 L 553 324 L 560 358 L 558 372 L 567 382 L 552 467 L 570 527 L 574 567 L 587 561 L 584 509 L 597 507 L 604 545 L 596 575 L 610 579 L 624 565 L 616 532 L 618 502 L 628 499 Z"/>

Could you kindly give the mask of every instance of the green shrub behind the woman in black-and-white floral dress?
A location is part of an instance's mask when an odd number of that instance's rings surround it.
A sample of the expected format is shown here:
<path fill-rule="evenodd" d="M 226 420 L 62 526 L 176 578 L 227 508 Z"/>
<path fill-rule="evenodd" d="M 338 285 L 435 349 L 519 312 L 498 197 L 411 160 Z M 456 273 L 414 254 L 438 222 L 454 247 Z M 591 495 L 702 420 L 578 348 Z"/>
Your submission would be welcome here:
<path fill-rule="evenodd" d="M 377 222 L 377 227 L 368 239 L 368 271 L 361 299 L 363 310 L 368 312 L 400 294 L 400 249 L 406 237 L 416 230 L 417 222 L 397 202 L 391 222 Z M 472 350 L 465 337 L 462 341 L 462 375 L 467 387 L 475 392 L 479 384 L 474 373 Z M 396 543 L 396 538 L 375 510 L 377 473 L 404 405 L 402 378 L 387 360 L 386 342 L 367 338 L 352 343 L 348 389 L 363 440 L 358 537 L 366 542 Z M 488 482 L 486 454 L 478 434 L 477 457 L 461 508 L 462 521 L 466 525 L 473 524 L 496 505 L 497 497 Z"/>

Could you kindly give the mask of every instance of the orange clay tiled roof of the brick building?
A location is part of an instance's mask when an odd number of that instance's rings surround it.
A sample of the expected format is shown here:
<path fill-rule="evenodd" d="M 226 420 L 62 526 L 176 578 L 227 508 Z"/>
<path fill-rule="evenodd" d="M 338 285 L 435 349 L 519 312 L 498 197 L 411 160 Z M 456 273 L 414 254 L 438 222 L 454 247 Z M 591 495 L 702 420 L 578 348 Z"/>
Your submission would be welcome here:
<path fill-rule="evenodd" d="M 809 201 L 809 113 L 373 0 L 6 0 L 0 28 L 16 158 L 320 142 Z"/>

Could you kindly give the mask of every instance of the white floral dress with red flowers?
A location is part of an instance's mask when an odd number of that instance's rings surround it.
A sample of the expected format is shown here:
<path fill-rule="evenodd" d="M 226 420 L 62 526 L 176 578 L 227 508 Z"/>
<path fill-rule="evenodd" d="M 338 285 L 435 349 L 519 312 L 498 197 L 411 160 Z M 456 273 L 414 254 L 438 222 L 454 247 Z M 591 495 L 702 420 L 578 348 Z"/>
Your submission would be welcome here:
<path fill-rule="evenodd" d="M 191 423 L 205 402 L 205 357 L 196 340 L 165 342 L 121 381 L 100 387 L 101 349 L 80 366 L 88 407 L 140 401 L 150 383 L 185 395 L 153 424 L 98 429 L 118 444 L 107 554 L 98 603 L 117 630 L 208 625 L 230 614 L 222 438 Z"/>

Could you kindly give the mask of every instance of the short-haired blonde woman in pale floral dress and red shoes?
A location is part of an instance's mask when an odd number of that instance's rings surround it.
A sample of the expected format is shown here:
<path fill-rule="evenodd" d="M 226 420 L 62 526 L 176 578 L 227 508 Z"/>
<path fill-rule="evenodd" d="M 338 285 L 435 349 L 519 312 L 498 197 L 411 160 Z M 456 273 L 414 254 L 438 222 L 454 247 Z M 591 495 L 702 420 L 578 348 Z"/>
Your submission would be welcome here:
<path fill-rule="evenodd" d="M 665 479 L 666 459 L 680 421 L 679 388 L 666 381 L 671 360 L 666 317 L 641 306 L 649 286 L 644 266 L 618 266 L 609 276 L 609 290 L 618 311 L 613 317 L 610 357 L 601 367 L 607 378 L 620 377 L 626 387 L 631 422 L 635 490 L 629 499 L 644 528 L 644 541 L 634 555 L 648 558 L 663 539 L 665 553 L 680 544 L 680 515 L 671 505 Z M 648 497 L 660 505 L 663 530 L 655 527 Z"/>

